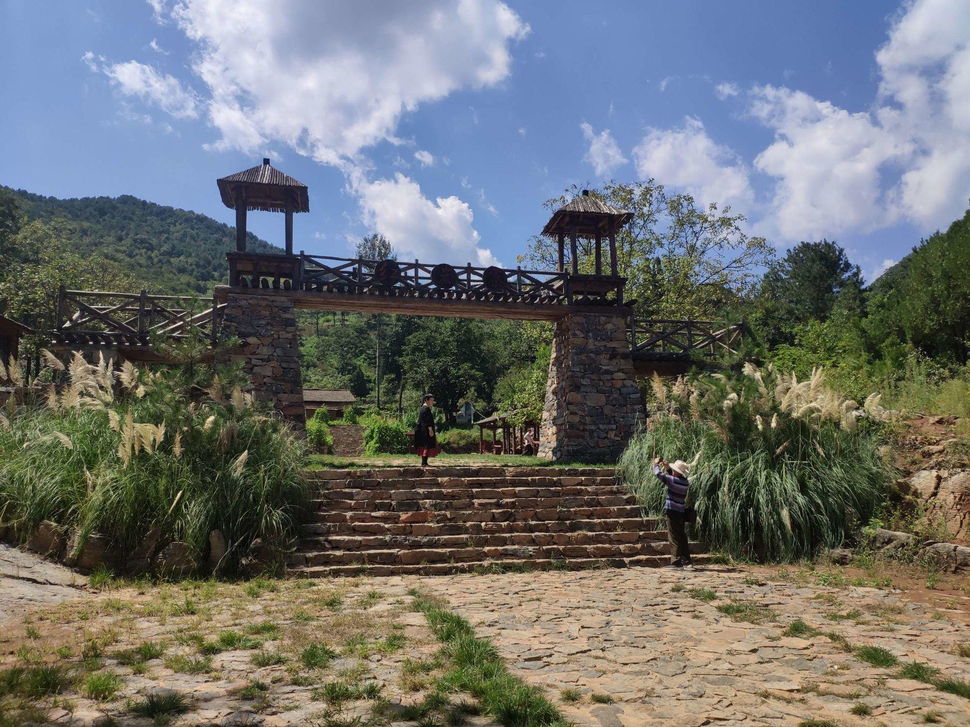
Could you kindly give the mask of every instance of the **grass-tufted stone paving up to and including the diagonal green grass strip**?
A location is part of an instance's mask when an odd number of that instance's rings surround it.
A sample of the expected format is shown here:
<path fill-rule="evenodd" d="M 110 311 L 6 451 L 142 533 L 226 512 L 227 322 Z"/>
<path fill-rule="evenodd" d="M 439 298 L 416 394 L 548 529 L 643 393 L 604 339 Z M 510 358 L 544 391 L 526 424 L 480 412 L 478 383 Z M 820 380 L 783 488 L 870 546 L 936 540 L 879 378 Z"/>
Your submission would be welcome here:
<path fill-rule="evenodd" d="M 8 621 L 0 654 L 0 727 L 230 712 L 368 727 L 480 713 L 525 724 L 528 711 L 529 724 L 562 724 L 467 621 L 400 582 L 115 581 Z"/>

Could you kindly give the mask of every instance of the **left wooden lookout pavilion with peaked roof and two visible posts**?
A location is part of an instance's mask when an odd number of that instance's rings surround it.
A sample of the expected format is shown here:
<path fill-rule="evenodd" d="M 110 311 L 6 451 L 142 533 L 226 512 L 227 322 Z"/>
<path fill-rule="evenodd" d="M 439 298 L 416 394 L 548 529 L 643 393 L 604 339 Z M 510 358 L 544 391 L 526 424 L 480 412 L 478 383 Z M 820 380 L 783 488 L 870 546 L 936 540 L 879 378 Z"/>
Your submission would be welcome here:
<path fill-rule="evenodd" d="M 222 204 L 236 210 L 236 250 L 245 252 L 246 210 L 283 212 L 286 215 L 286 254 L 293 254 L 293 213 L 309 211 L 307 185 L 283 174 L 263 159 L 259 167 L 216 179 Z"/>

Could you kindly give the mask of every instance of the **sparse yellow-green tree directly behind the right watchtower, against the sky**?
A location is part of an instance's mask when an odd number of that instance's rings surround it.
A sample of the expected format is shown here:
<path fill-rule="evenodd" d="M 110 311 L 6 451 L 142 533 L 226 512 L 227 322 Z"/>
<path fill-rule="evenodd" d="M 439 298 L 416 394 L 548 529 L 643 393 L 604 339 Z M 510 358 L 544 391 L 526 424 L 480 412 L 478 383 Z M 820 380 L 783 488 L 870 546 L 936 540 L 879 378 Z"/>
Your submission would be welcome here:
<path fill-rule="evenodd" d="M 579 193 L 572 185 L 561 197 L 548 200 L 555 210 Z M 745 218 L 730 206 L 696 205 L 691 195 L 669 195 L 653 179 L 630 184 L 610 182 L 590 194 L 608 205 L 632 213 L 616 236 L 619 272 L 627 278 L 627 298 L 643 317 L 713 317 L 754 288 L 761 270 L 772 259 L 764 237 L 742 230 Z M 578 266 L 594 269 L 592 245 L 580 244 Z M 555 269 L 555 240 L 536 236 L 520 258 L 540 269 Z"/>

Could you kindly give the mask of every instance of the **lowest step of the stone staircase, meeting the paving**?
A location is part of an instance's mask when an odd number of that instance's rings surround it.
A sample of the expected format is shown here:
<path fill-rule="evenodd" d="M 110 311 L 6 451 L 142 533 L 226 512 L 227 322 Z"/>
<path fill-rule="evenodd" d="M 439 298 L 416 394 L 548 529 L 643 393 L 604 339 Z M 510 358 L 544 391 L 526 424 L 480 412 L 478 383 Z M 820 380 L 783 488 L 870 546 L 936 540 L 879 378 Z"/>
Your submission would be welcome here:
<path fill-rule="evenodd" d="M 693 549 L 692 549 L 693 551 Z M 703 565 L 709 556 L 694 556 L 697 565 Z M 501 561 L 466 563 L 422 563 L 402 564 L 355 564 L 355 565 L 318 565 L 291 567 L 290 573 L 304 578 L 329 578 L 337 576 L 445 576 L 452 573 L 503 573 L 533 570 L 593 570 L 598 568 L 659 568 L 670 562 L 668 555 L 636 555 L 617 558 L 569 558 L 567 560 L 515 559 Z"/>

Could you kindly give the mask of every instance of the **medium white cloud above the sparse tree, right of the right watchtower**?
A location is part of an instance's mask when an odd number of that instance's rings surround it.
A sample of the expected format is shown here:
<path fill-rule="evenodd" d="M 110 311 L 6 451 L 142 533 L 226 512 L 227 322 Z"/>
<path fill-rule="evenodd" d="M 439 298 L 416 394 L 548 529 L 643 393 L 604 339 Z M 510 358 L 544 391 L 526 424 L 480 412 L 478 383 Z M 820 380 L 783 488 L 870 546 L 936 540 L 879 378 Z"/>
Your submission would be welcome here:
<path fill-rule="evenodd" d="M 714 142 L 693 116 L 679 129 L 649 129 L 633 149 L 633 161 L 641 177 L 682 189 L 704 205 L 716 202 L 743 210 L 753 199 L 744 164 Z"/>

